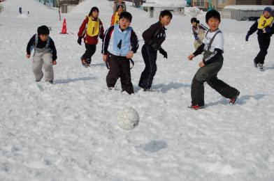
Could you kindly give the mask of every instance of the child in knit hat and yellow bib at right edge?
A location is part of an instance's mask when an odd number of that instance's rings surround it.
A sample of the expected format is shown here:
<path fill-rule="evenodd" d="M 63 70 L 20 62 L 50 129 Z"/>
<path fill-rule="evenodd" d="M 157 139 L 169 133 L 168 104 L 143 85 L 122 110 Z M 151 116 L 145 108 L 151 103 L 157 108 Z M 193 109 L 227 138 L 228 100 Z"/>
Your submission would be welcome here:
<path fill-rule="evenodd" d="M 260 47 L 260 52 L 254 58 L 254 67 L 259 68 L 259 70 L 264 70 L 264 59 L 267 54 L 267 49 L 271 43 L 271 26 L 273 26 L 273 17 L 271 16 L 272 9 L 271 7 L 264 8 L 264 14 L 254 22 L 250 27 L 250 31 L 247 32 L 245 40 L 248 41 L 248 38 L 257 31 L 258 42 Z"/>

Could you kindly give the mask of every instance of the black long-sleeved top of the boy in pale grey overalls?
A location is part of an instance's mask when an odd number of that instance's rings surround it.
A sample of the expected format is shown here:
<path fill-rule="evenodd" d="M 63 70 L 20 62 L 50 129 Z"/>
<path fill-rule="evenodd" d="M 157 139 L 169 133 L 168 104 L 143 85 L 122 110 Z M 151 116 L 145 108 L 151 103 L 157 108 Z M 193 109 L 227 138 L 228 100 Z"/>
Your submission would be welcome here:
<path fill-rule="evenodd" d="M 47 41 L 43 42 L 40 37 L 38 36 L 38 42 L 37 45 L 35 45 L 35 36 L 32 36 L 27 44 L 27 54 L 31 54 L 31 47 L 36 46 L 38 49 L 43 49 L 47 45 Z M 50 36 L 48 37 L 50 38 Z M 50 38 L 50 44 L 48 45 L 48 48 L 52 51 L 52 61 L 56 61 L 57 59 L 57 51 L 55 48 L 55 42 L 53 42 L 52 38 Z"/>

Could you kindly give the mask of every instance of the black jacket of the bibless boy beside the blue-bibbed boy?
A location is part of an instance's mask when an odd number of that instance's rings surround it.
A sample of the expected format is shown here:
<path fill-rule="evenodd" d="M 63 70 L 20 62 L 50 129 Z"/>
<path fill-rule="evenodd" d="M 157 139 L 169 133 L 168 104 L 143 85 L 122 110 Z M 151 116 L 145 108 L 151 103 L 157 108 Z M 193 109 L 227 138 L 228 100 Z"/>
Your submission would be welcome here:
<path fill-rule="evenodd" d="M 159 21 L 145 30 L 142 36 L 145 44 L 150 45 L 150 47 L 157 51 L 161 48 L 161 44 L 164 40 L 166 40 L 166 28 L 165 26 L 162 26 Z"/>

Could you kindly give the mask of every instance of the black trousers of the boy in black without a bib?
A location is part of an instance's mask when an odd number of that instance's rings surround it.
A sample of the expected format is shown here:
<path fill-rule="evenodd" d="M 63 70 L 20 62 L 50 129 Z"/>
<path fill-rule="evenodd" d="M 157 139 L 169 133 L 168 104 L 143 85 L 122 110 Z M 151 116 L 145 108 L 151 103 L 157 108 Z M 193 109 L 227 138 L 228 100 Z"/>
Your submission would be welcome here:
<path fill-rule="evenodd" d="M 145 44 L 142 47 L 142 56 L 145 61 L 145 70 L 140 74 L 138 86 L 147 89 L 151 88 L 153 77 L 157 71 L 157 51 Z"/>

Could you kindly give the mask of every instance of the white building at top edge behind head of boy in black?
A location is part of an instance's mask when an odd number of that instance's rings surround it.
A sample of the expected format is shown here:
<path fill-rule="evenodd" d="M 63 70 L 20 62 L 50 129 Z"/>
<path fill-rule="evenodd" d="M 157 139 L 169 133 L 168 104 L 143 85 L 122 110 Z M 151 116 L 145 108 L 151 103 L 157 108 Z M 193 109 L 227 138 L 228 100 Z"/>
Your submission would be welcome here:
<path fill-rule="evenodd" d="M 187 1 L 184 0 L 147 0 L 143 7 L 147 9 L 147 17 L 159 17 L 161 10 L 170 10 L 177 15 L 184 14 L 184 8 Z"/>

